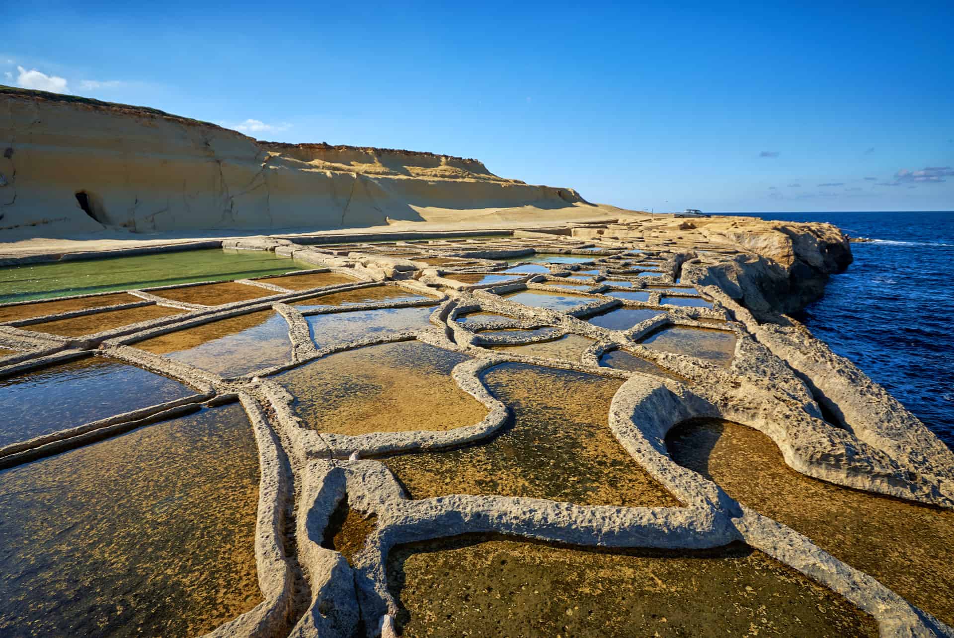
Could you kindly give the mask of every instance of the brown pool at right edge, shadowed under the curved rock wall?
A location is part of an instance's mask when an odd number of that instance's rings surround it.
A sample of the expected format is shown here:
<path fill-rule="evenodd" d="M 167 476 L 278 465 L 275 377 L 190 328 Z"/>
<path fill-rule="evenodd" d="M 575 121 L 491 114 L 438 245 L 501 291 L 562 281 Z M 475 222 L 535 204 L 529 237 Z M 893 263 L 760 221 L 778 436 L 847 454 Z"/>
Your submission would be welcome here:
<path fill-rule="evenodd" d="M 676 463 L 954 624 L 954 511 L 810 479 L 771 439 L 737 423 L 689 422 L 666 442 Z"/>

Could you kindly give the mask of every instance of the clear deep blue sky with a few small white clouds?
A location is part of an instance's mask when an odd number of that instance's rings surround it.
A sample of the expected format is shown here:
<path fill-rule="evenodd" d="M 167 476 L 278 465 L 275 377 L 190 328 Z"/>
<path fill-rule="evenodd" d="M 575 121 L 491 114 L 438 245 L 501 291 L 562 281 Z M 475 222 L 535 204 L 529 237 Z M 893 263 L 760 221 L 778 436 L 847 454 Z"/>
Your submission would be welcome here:
<path fill-rule="evenodd" d="M 954 4 L 862 4 L 33 2 L 0 83 L 627 208 L 952 210 Z"/>

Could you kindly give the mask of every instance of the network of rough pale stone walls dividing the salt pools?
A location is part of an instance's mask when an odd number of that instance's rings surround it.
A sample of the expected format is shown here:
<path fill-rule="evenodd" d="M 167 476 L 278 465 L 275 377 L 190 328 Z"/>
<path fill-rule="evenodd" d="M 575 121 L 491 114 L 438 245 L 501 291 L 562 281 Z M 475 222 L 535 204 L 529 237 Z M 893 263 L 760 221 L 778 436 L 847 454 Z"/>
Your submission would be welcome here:
<path fill-rule="evenodd" d="M 269 284 L 267 278 L 248 280 L 244 282 L 276 294 L 211 308 L 183 305 L 150 295 L 149 291 L 134 291 L 133 294 L 144 300 L 188 312 L 80 339 L 31 331 L 34 319 L 0 325 L 0 347 L 18 351 L 0 359 L 0 377 L 93 353 L 164 374 L 197 390 L 197 394 L 184 400 L 0 448 L 0 464 L 23 463 L 56 453 L 85 444 L 93 436 L 108 436 L 116 431 L 109 428 L 137 427 L 174 416 L 178 414 L 176 410 L 195 409 L 200 403 L 241 401 L 259 444 L 261 486 L 256 557 L 263 602 L 210 635 L 351 635 L 359 622 L 368 635 L 393 635 L 392 616 L 397 603 L 386 585 L 389 550 L 408 542 L 473 532 L 499 532 L 570 545 L 609 547 L 707 548 L 741 540 L 832 588 L 870 613 L 879 622 L 882 635 L 954 635 L 933 616 L 912 607 L 870 576 L 841 563 L 794 530 L 737 504 L 716 484 L 674 463 L 664 439 L 675 424 L 690 418 L 718 417 L 741 422 L 768 435 L 778 444 L 785 462 L 808 476 L 951 508 L 954 499 L 949 477 L 954 463 L 944 456 L 943 443 L 937 442 L 900 404 L 886 419 L 865 421 L 871 407 L 867 413 L 853 407 L 843 377 L 837 374 L 838 361 L 830 351 L 827 358 L 819 358 L 830 366 L 827 372 L 803 369 L 804 366 L 799 365 L 801 360 L 793 354 L 799 352 L 801 346 L 826 352 L 824 344 L 811 341 L 807 331 L 799 331 L 794 324 L 785 328 L 758 323 L 746 308 L 709 283 L 712 265 L 700 259 L 696 251 L 682 246 L 675 250 L 659 246 L 650 251 L 643 246 L 647 250 L 644 257 L 658 257 L 649 268 L 640 265 L 640 256 L 620 254 L 618 248 L 632 244 L 602 241 L 606 250 L 584 252 L 580 249 L 592 246 L 592 242 L 568 239 L 564 247 L 554 247 L 552 244 L 556 241 L 550 239 L 546 247 L 538 250 L 586 255 L 592 262 L 558 264 L 550 274 L 519 276 L 513 282 L 494 286 L 469 285 L 442 276 L 505 270 L 508 266 L 493 261 L 492 257 L 513 252 L 519 256 L 519 250 L 501 253 L 483 246 L 479 249 L 460 245 L 417 246 L 431 256 L 468 259 L 469 265 L 454 269 L 429 266 L 414 257 L 388 257 L 386 249 L 384 255 L 363 252 L 361 247 L 342 251 L 345 255 L 335 255 L 322 252 L 320 247 L 263 240 L 246 247 L 281 251 L 315 264 L 318 269 L 314 272 L 339 272 L 357 280 L 308 291 L 281 289 Z M 406 244 L 400 249 L 407 250 L 408 246 L 414 245 Z M 365 247 L 367 249 L 369 247 Z M 395 252 L 400 249 L 395 248 Z M 718 263 L 718 268 L 724 267 L 723 262 Z M 598 269 L 600 274 L 591 276 L 592 285 L 587 288 L 568 292 L 553 285 L 577 271 L 592 268 Z M 662 277 L 641 276 L 645 272 L 660 272 Z M 714 301 L 714 307 L 660 305 L 661 293 L 646 287 L 673 284 L 680 274 L 683 283 L 695 284 L 705 298 Z M 744 268 L 738 276 L 744 278 Z M 607 279 L 627 280 L 635 287 L 602 283 Z M 431 299 L 320 306 L 303 313 L 291 305 L 302 299 L 320 301 L 324 295 L 359 290 L 383 281 L 387 281 L 384 285 Z M 518 290 L 558 292 L 580 297 L 586 303 L 570 312 L 558 312 L 522 305 L 496 294 Z M 645 290 L 650 297 L 648 302 L 634 302 L 601 294 L 611 290 Z M 670 292 L 666 296 L 691 297 L 687 293 Z M 420 305 L 434 307 L 428 327 L 320 347 L 311 340 L 305 319 L 313 315 Z M 623 307 L 649 307 L 663 314 L 636 323 L 625 331 L 602 328 L 586 320 L 595 312 Z M 269 308 L 276 310 L 289 327 L 292 359 L 283 365 L 226 378 L 135 348 L 137 340 Z M 101 310 L 66 315 L 83 316 Z M 507 315 L 512 320 L 504 323 L 457 320 L 475 310 Z M 529 339 L 519 333 L 484 337 L 476 332 L 501 326 L 525 329 L 554 326 L 556 330 L 547 337 Z M 667 326 L 717 327 L 732 333 L 736 337 L 736 348 L 731 367 L 726 369 L 709 360 L 656 350 L 638 342 Z M 540 359 L 481 347 L 554 340 L 570 334 L 593 340 L 581 360 Z M 793 335 L 799 335 L 801 341 L 796 341 Z M 282 371 L 329 354 L 411 339 L 472 358 L 455 366 L 451 377 L 462 391 L 487 408 L 483 421 L 444 432 L 377 432 L 358 436 L 317 432 L 302 426 L 290 407 L 293 398 L 272 380 Z M 686 381 L 600 366 L 600 355 L 614 349 L 650 360 Z M 440 450 L 480 442 L 498 431 L 508 418 L 508 406 L 487 391 L 480 375 L 508 361 L 625 380 L 612 401 L 608 423 L 612 434 L 633 460 L 683 506 L 583 506 L 543 499 L 466 495 L 408 500 L 391 472 L 374 458 L 397 451 Z M 863 388 L 880 388 L 863 377 L 857 368 L 850 373 L 866 381 Z M 834 381 L 829 381 L 829 377 L 834 377 Z M 816 401 L 818 388 L 826 392 L 828 401 L 841 408 L 851 428 L 837 427 L 821 418 Z M 893 400 L 889 399 L 880 401 L 894 408 L 890 403 Z M 856 402 L 866 404 L 861 399 Z M 913 430 L 903 444 L 893 436 L 901 427 Z M 350 563 L 340 552 L 321 546 L 325 527 L 345 498 L 351 508 L 376 517 L 374 531 Z M 294 529 L 295 549 L 290 552 L 291 529 Z"/>

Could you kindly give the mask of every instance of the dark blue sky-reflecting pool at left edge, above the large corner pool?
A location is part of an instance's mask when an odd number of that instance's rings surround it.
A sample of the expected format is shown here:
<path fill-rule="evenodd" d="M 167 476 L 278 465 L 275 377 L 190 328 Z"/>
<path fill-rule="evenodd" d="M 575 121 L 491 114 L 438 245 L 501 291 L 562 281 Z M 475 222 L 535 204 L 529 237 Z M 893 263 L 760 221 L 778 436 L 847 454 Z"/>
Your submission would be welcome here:
<path fill-rule="evenodd" d="M 193 394 L 195 390 L 178 381 L 106 357 L 85 357 L 2 378 L 0 445 Z"/>

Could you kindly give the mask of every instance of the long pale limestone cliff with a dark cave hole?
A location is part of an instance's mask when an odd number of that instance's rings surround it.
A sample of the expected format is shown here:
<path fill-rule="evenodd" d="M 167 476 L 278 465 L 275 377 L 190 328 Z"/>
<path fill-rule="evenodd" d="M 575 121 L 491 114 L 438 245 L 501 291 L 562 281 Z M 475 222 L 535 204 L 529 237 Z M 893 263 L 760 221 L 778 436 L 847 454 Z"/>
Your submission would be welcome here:
<path fill-rule="evenodd" d="M 514 207 L 592 208 L 474 159 L 259 142 L 155 109 L 0 87 L 0 240 L 321 230 Z"/>

